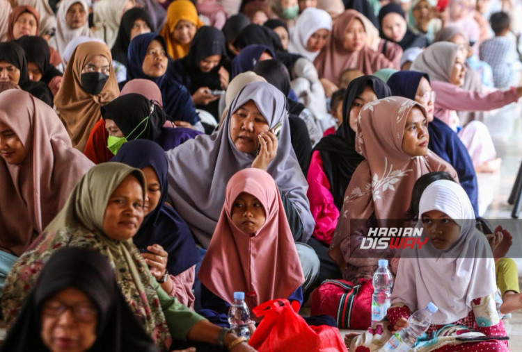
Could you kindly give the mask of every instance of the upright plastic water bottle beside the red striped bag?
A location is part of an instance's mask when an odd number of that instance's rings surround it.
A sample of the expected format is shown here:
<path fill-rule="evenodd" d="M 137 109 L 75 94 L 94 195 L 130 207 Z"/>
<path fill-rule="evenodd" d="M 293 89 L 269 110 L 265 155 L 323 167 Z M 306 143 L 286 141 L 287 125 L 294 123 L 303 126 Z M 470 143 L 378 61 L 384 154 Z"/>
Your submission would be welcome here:
<path fill-rule="evenodd" d="M 386 317 L 386 312 L 390 308 L 391 288 L 393 286 L 393 276 L 388 270 L 388 260 L 380 259 L 379 268 L 373 274 L 374 292 L 372 295 L 372 325 L 376 321 L 381 321 Z"/>

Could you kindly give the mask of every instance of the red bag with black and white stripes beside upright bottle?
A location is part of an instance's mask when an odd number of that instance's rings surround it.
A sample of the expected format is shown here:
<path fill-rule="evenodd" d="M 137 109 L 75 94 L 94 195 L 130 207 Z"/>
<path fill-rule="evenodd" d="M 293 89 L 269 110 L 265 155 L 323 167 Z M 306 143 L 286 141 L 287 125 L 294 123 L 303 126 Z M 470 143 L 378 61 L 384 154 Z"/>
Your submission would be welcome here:
<path fill-rule="evenodd" d="M 372 320 L 372 281 L 324 280 L 312 292 L 310 314 L 329 315 L 341 329 L 367 329 Z"/>

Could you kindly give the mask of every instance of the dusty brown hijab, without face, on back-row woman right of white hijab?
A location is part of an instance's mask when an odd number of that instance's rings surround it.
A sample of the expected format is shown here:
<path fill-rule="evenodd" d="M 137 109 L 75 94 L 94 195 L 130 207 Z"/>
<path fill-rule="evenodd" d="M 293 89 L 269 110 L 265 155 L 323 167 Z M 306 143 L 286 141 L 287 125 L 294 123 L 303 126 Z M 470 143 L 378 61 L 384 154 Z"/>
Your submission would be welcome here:
<path fill-rule="evenodd" d="M 333 22 L 326 45 L 314 60 L 319 78 L 326 78 L 338 85 L 339 76 L 344 69 L 358 69 L 363 74 L 372 75 L 379 69 L 395 68 L 382 53 L 370 49 L 367 45 L 355 52 L 347 51 L 342 46 L 347 28 L 355 19 L 363 23 L 366 33 L 369 32 L 364 15 L 356 10 L 342 12 Z"/>

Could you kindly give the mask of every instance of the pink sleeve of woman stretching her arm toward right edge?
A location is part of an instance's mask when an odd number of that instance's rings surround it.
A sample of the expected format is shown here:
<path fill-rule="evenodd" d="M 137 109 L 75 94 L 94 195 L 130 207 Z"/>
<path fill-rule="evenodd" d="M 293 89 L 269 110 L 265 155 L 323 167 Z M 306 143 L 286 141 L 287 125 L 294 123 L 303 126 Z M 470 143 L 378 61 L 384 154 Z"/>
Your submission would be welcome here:
<path fill-rule="evenodd" d="M 450 113 L 454 111 L 487 111 L 502 108 L 519 100 L 516 89 L 496 90 L 495 92 L 471 92 L 463 90 L 452 83 L 432 81 L 436 92 L 434 115 L 444 121 L 453 130 L 457 128 L 452 123 Z"/>

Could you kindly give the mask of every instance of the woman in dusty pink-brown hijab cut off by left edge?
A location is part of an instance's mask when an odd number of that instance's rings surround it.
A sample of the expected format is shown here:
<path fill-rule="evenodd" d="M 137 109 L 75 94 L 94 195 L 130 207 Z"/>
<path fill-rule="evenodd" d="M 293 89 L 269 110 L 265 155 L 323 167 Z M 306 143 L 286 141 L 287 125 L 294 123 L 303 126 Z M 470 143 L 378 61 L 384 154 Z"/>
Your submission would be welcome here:
<path fill-rule="evenodd" d="M 0 156 L 0 250 L 18 256 L 94 164 L 54 110 L 22 90 L 0 93 Z"/>

